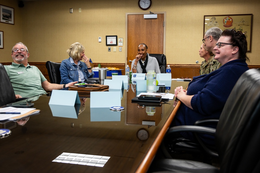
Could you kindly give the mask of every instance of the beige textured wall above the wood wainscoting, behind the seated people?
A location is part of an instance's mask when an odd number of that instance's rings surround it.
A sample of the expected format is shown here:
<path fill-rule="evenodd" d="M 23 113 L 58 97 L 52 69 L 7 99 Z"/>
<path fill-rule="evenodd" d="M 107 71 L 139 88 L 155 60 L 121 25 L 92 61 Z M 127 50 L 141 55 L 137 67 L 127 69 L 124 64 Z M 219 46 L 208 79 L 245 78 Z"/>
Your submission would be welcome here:
<path fill-rule="evenodd" d="M 10 3 L 12 2 L 12 3 Z M 93 62 L 125 63 L 125 13 L 166 11 L 166 57 L 169 64 L 201 63 L 199 48 L 203 39 L 204 15 L 253 14 L 250 65 L 260 65 L 259 0 L 238 1 L 152 1 L 150 9 L 139 9 L 137 0 L 87 1 L 43 0 L 24 2 L 18 8 L 15 0 L 2 0 L 1 4 L 15 8 L 15 25 L 0 23 L 4 31 L 4 49 L 0 49 L 1 62 L 10 62 L 12 46 L 19 41 L 27 45 L 29 61 L 61 62 L 68 58 L 67 48 L 80 42 Z M 73 8 L 73 13 L 69 13 Z M 78 12 L 78 8 L 82 12 Z M 22 16 L 22 17 L 21 17 Z M 124 38 L 123 51 L 108 52 L 106 35 Z M 98 37 L 102 42 L 98 42 Z M 149 51 L 148 51 L 149 52 Z M 3 58 L 2 58 L 3 57 Z"/>

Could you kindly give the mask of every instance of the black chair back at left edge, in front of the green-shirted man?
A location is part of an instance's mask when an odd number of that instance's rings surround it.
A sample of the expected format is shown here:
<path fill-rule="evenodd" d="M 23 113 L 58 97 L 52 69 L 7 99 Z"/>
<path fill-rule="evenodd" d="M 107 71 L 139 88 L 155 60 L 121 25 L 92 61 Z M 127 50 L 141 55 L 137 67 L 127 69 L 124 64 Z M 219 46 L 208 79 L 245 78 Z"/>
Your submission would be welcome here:
<path fill-rule="evenodd" d="M 0 106 L 16 101 L 14 89 L 4 66 L 0 63 Z"/>

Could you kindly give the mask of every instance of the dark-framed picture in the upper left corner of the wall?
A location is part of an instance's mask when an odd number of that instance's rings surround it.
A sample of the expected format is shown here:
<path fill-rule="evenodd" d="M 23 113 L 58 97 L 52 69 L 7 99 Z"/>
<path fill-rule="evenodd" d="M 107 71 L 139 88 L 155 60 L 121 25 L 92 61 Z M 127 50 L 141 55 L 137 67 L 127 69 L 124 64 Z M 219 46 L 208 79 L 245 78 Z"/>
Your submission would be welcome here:
<path fill-rule="evenodd" d="M 14 8 L 0 5 L 0 22 L 14 25 Z"/>

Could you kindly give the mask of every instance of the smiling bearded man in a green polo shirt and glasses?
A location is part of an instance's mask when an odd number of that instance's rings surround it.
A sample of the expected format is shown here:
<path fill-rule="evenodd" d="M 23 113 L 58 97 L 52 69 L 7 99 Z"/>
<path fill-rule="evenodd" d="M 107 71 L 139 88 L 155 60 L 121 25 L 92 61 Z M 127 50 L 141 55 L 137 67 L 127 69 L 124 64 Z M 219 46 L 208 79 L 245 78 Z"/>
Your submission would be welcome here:
<path fill-rule="evenodd" d="M 46 94 L 46 92 L 53 89 L 62 89 L 78 82 L 71 82 L 66 85 L 51 84 L 37 67 L 28 64 L 28 57 L 27 47 L 21 42 L 16 43 L 12 48 L 14 62 L 12 62 L 12 65 L 4 66 L 11 80 L 16 98 Z"/>

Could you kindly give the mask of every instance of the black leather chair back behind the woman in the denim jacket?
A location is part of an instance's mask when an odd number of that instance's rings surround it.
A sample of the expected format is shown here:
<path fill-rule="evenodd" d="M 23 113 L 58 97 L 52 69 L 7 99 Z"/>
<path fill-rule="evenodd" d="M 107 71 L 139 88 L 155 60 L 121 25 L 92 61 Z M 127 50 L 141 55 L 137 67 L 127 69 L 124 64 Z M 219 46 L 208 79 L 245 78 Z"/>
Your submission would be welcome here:
<path fill-rule="evenodd" d="M 60 84 L 61 77 L 60 77 L 60 65 L 61 63 L 47 61 L 46 68 L 48 70 L 50 83 L 52 84 Z"/>

